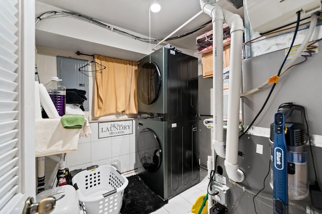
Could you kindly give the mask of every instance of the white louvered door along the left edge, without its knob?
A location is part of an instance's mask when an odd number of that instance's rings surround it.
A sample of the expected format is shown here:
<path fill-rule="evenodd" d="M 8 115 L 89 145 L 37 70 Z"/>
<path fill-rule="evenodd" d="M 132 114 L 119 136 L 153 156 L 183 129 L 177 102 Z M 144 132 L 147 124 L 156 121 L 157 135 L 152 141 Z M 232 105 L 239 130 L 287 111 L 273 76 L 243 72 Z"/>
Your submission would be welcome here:
<path fill-rule="evenodd" d="M 35 196 L 35 2 L 0 1 L 0 213 Z"/>

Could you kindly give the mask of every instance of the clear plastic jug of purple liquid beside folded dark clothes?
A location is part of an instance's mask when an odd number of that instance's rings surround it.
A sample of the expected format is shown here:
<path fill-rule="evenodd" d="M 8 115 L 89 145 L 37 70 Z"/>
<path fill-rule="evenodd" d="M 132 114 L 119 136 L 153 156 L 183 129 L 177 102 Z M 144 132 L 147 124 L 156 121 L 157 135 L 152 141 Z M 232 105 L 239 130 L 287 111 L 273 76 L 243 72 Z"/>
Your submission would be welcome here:
<path fill-rule="evenodd" d="M 54 103 L 59 116 L 65 114 L 66 88 L 62 85 L 62 80 L 58 77 L 51 77 L 51 81 L 45 85 L 48 94 Z"/>

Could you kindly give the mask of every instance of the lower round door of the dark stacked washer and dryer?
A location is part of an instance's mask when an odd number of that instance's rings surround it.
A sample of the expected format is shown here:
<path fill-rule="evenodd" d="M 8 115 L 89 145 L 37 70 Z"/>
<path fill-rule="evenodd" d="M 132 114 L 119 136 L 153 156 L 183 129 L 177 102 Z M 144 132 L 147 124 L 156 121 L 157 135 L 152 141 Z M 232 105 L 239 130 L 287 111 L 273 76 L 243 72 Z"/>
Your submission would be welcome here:
<path fill-rule="evenodd" d="M 162 150 L 157 136 L 149 129 L 142 129 L 137 136 L 140 162 L 148 172 L 155 172 L 161 165 Z"/>

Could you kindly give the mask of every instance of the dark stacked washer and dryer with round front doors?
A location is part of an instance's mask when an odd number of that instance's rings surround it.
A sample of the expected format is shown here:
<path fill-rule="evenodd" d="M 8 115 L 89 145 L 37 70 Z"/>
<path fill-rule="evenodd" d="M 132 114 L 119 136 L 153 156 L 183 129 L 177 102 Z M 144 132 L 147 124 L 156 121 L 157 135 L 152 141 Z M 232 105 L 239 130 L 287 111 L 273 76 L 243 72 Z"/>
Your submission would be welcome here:
<path fill-rule="evenodd" d="M 198 59 L 161 48 L 138 62 L 136 164 L 164 199 L 200 180 Z"/>

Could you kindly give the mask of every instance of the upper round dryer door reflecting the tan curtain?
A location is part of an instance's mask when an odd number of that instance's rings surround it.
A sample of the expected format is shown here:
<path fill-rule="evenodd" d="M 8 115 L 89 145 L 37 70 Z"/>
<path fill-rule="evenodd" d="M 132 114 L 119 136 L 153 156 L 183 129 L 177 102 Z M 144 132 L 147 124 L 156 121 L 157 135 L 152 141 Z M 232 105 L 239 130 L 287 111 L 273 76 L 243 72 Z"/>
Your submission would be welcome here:
<path fill-rule="evenodd" d="M 149 105 L 157 99 L 160 88 L 161 74 L 157 65 L 153 62 L 144 63 L 137 75 L 138 98 Z"/>

